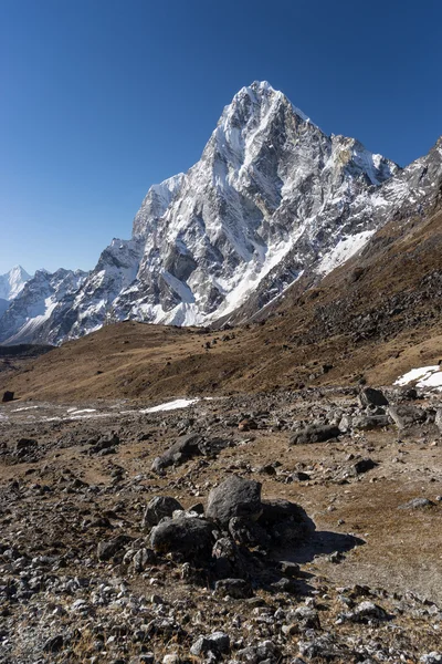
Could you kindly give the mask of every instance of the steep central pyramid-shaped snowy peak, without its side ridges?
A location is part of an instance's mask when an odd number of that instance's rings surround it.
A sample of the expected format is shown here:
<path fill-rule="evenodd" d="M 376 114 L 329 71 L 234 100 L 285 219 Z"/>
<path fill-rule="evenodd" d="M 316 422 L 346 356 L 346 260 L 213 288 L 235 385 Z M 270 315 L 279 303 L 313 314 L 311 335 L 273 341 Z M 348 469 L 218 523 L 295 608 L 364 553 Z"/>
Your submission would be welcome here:
<path fill-rule="evenodd" d="M 327 205 L 336 218 L 397 170 L 326 136 L 269 84 L 241 90 L 162 217 L 137 225 L 144 256 L 116 318 L 192 324 L 233 311 Z"/>

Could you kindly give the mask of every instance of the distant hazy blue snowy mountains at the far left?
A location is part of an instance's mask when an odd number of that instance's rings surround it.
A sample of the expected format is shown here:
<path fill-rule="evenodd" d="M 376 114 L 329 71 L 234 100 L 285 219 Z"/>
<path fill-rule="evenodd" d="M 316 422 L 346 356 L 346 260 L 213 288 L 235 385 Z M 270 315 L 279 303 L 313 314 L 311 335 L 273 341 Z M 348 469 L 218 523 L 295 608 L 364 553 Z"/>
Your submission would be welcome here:
<path fill-rule="evenodd" d="M 7 344 L 56 343 L 72 325 L 70 312 L 86 272 L 38 270 L 0 319 L 0 341 Z"/>

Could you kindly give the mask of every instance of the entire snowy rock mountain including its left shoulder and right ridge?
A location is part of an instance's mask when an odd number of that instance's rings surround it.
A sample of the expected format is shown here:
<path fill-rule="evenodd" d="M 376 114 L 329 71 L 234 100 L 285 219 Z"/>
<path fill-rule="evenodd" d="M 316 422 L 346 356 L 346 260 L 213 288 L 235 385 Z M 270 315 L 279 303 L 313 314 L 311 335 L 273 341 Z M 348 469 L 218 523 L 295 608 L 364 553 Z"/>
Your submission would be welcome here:
<path fill-rule="evenodd" d="M 45 333 L 59 343 L 126 318 L 244 320 L 244 302 L 253 315 L 302 274 L 341 264 L 401 210 L 421 214 L 440 189 L 441 149 L 401 172 L 325 135 L 267 83 L 244 87 L 201 159 L 150 188 L 133 239 L 112 242 Z"/>

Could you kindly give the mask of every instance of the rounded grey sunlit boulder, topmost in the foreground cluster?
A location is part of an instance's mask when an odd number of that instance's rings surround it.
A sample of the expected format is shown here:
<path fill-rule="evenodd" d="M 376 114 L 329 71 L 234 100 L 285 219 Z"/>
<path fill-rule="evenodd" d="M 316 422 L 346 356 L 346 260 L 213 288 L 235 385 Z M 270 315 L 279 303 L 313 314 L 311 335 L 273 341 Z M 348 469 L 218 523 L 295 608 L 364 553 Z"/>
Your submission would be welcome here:
<path fill-rule="evenodd" d="M 206 516 L 223 527 L 233 517 L 256 520 L 262 513 L 261 483 L 229 477 L 209 494 Z"/>

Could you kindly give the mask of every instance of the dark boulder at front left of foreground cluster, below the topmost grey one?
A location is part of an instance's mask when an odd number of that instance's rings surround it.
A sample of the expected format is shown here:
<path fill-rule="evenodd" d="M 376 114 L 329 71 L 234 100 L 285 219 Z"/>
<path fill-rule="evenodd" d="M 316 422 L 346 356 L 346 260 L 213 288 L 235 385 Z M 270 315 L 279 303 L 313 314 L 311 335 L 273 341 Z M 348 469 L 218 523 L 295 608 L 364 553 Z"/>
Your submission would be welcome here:
<path fill-rule="evenodd" d="M 213 543 L 213 523 L 197 517 L 164 521 L 150 532 L 154 551 L 178 554 L 182 560 L 211 558 Z"/>

